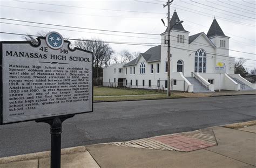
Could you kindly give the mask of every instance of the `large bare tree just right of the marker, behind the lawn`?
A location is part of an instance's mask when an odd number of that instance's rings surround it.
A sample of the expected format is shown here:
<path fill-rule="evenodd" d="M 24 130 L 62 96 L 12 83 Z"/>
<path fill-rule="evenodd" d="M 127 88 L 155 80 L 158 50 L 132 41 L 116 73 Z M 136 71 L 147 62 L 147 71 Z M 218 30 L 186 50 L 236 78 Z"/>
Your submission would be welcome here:
<path fill-rule="evenodd" d="M 96 38 L 75 40 L 74 45 L 93 53 L 93 69 L 95 72 L 93 76 L 98 83 L 99 77 L 103 73 L 103 67 L 110 65 L 110 58 L 114 51 L 109 44 Z"/>

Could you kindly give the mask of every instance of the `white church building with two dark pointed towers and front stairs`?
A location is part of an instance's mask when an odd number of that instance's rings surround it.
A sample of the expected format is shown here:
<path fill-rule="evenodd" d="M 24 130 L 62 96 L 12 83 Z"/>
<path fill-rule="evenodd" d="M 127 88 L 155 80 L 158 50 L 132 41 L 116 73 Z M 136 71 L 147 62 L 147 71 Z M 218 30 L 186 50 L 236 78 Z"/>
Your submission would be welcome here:
<path fill-rule="evenodd" d="M 229 39 L 214 18 L 207 34 L 189 36 L 174 11 L 170 20 L 171 89 L 185 92 L 251 90 L 256 85 L 234 74 L 234 58 L 229 56 Z M 103 86 L 167 89 L 167 29 L 160 34 L 161 45 L 140 53 L 127 64 L 103 69 Z M 224 67 L 217 71 L 218 65 Z"/>

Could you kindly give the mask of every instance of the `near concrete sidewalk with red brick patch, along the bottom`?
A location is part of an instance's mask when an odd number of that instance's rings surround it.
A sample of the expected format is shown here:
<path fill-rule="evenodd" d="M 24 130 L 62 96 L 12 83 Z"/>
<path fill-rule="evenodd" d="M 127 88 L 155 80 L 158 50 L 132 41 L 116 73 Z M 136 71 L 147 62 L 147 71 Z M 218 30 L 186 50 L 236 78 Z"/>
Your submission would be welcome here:
<path fill-rule="evenodd" d="M 149 139 L 63 149 L 62 167 L 256 166 L 256 125 L 239 129 L 213 127 Z M 177 149 L 179 146 L 172 148 L 178 144 L 183 150 Z M 185 152 L 188 148 L 194 150 Z M 0 158 L 0 167 L 50 167 L 49 157 L 49 152 L 40 152 Z"/>

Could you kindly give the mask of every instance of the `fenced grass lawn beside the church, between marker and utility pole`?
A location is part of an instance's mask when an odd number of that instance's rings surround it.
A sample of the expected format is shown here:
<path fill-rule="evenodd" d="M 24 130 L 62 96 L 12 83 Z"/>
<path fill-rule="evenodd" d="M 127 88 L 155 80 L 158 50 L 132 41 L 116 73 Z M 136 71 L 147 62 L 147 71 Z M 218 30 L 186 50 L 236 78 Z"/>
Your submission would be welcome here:
<path fill-rule="evenodd" d="M 125 89 L 109 87 L 93 87 L 93 96 L 120 96 L 120 95 L 144 95 L 144 94 L 165 94 L 156 90 L 147 89 Z"/>

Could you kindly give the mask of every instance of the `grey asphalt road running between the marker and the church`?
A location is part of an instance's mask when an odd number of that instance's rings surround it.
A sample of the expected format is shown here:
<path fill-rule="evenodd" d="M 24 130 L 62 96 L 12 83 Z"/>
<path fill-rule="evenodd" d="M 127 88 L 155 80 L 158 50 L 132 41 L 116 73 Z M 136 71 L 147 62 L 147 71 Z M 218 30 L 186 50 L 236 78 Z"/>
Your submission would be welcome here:
<path fill-rule="evenodd" d="M 126 141 L 256 120 L 256 95 L 94 103 L 63 123 L 62 148 Z M 50 126 L 0 125 L 0 157 L 50 150 Z"/>

